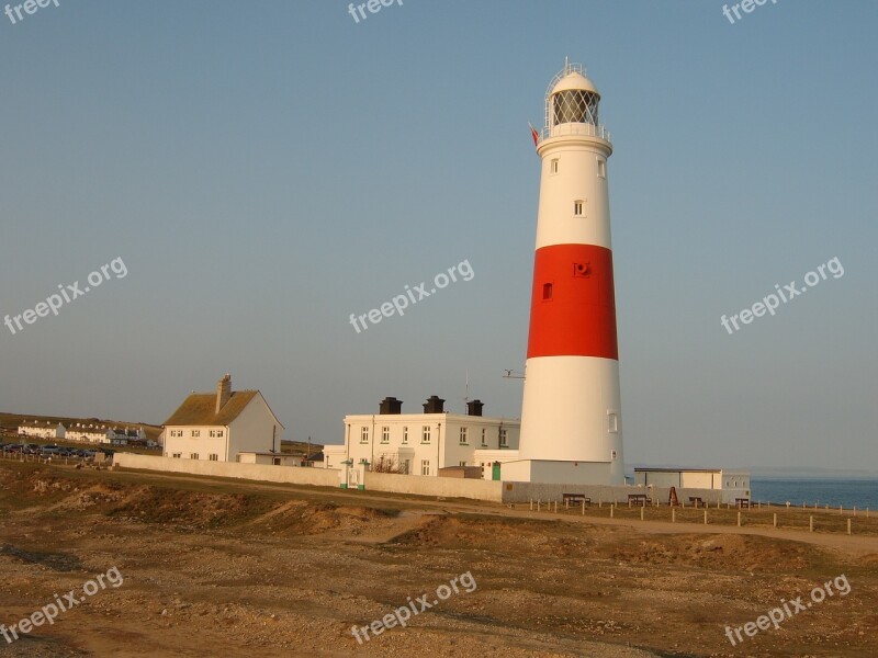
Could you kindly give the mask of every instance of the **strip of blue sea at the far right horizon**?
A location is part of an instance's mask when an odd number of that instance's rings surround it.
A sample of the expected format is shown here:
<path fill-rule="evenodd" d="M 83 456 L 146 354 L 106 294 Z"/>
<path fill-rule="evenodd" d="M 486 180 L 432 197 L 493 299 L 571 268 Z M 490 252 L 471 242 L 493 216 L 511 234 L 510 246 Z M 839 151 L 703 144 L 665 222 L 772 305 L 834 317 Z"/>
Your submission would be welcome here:
<path fill-rule="evenodd" d="M 791 504 L 801 507 L 802 502 L 808 507 L 837 508 L 840 504 L 845 509 L 856 507 L 858 510 L 868 508 L 878 511 L 878 478 L 769 478 L 751 477 L 750 499 L 770 501 L 784 504 L 789 501 Z"/>

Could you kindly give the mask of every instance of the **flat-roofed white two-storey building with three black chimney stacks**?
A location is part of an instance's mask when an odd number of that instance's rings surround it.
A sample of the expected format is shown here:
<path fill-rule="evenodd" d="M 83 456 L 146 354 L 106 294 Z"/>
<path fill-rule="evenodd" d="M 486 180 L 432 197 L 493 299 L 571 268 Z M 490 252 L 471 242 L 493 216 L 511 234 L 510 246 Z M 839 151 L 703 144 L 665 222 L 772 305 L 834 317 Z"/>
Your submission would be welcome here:
<path fill-rule="evenodd" d="M 519 420 L 484 417 L 480 400 L 468 402 L 466 413 L 444 411 L 437 396 L 423 413 L 403 413 L 402 405 L 389 397 L 379 413 L 346 416 L 345 444 L 324 447 L 323 467 L 365 461 L 371 470 L 438 476 L 440 468 L 481 466 L 485 479 L 499 479 L 495 465 L 517 454 Z"/>

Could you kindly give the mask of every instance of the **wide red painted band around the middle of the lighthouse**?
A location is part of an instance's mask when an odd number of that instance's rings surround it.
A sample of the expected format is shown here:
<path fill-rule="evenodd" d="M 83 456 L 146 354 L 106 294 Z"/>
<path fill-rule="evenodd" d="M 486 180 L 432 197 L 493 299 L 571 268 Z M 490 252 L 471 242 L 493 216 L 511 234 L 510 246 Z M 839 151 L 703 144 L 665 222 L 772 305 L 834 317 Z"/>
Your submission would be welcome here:
<path fill-rule="evenodd" d="M 619 359 L 612 252 L 594 245 L 537 250 L 528 359 Z"/>

